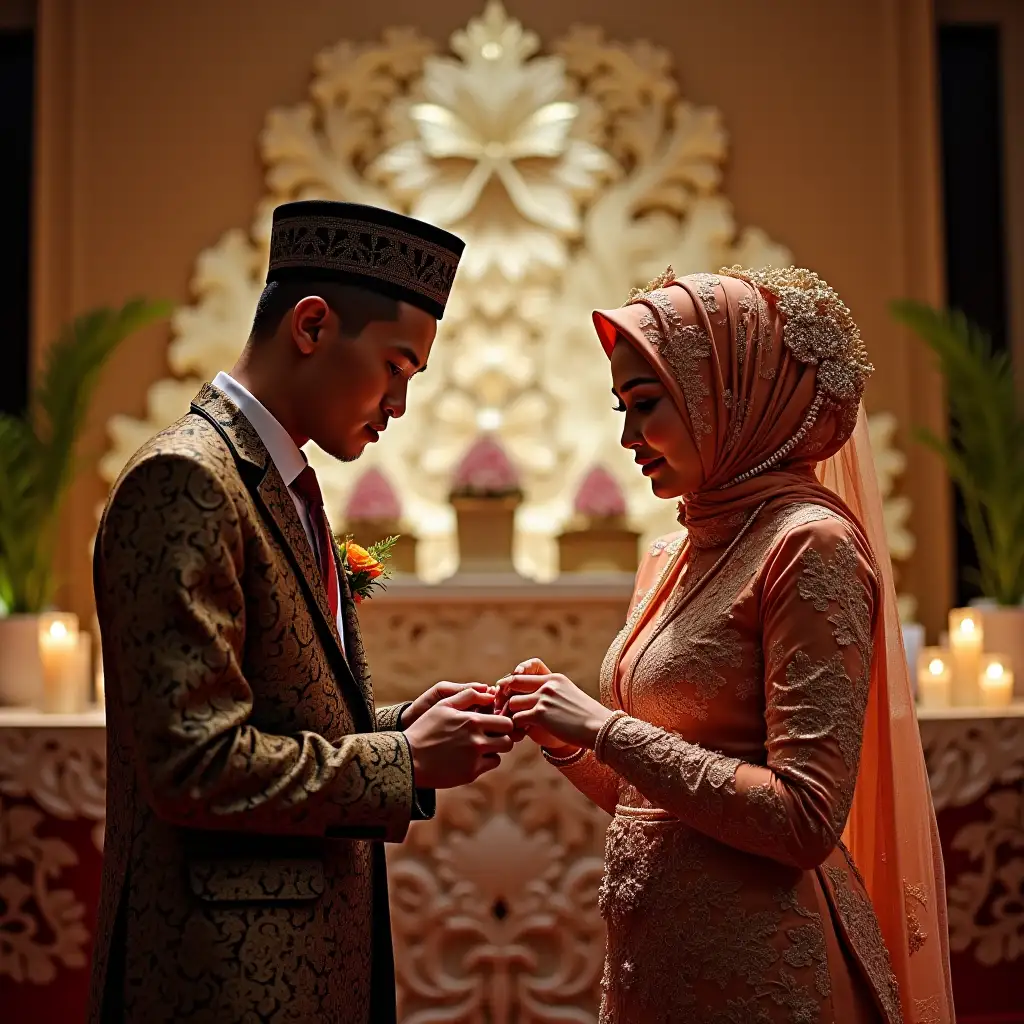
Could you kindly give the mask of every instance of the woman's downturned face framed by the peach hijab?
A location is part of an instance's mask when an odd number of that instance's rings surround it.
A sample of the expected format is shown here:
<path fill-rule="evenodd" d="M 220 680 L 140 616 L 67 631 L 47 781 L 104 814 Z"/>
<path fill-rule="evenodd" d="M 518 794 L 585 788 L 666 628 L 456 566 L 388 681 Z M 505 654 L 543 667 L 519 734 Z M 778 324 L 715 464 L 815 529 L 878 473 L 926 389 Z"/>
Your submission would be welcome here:
<path fill-rule="evenodd" d="M 622 445 L 633 453 L 658 498 L 679 498 L 703 483 L 700 456 L 653 367 L 624 338 L 611 351 L 611 393 L 618 399 Z"/>

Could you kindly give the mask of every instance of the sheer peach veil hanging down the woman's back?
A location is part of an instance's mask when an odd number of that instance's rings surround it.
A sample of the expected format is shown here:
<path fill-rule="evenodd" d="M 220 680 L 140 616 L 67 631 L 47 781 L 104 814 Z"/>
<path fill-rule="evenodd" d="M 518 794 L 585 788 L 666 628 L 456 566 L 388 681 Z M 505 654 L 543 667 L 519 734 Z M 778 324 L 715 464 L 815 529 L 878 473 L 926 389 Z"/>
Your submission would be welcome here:
<path fill-rule="evenodd" d="M 818 465 L 817 476 L 857 516 L 882 582 L 860 772 L 844 841 L 874 904 L 899 981 L 903 1019 L 946 1024 L 955 1016 L 942 851 L 863 406 L 853 436 Z"/>

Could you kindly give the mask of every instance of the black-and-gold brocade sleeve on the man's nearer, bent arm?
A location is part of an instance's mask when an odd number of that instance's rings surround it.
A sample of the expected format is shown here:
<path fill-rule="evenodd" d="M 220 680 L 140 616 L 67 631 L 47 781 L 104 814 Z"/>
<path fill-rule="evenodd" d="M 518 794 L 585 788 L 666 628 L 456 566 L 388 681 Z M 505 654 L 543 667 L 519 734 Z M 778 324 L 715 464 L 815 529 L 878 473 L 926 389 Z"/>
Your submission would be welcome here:
<path fill-rule="evenodd" d="M 119 689 L 113 724 L 128 733 L 158 815 L 194 828 L 403 838 L 414 780 L 400 732 L 332 743 L 251 723 L 244 538 L 210 469 L 183 455 L 133 467 L 95 558 L 104 660 Z"/>

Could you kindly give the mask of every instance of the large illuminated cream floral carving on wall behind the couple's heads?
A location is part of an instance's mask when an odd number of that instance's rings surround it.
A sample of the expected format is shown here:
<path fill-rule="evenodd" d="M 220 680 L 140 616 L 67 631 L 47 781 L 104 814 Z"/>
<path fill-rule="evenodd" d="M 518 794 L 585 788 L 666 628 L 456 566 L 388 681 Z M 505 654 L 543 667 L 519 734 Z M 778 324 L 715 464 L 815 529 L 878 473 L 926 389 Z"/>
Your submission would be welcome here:
<path fill-rule="evenodd" d="M 497 0 L 450 46 L 435 52 L 412 30 L 340 42 L 316 56 L 309 98 L 267 115 L 267 195 L 249 232 L 229 231 L 199 256 L 196 302 L 175 316 L 168 349 L 174 377 L 151 389 L 144 420 L 111 421 L 108 480 L 187 410 L 202 379 L 234 361 L 272 207 L 338 199 L 408 210 L 469 242 L 431 373 L 388 444 L 362 463 L 403 481 L 425 578 L 455 568 L 446 484 L 481 430 L 525 472 L 515 553 L 525 574 L 554 575 L 555 539 L 595 461 L 621 482 L 646 541 L 671 528 L 670 510 L 620 452 L 590 310 L 681 254 L 683 273 L 788 254 L 757 228 L 737 231 L 721 191 L 721 118 L 680 96 L 663 50 L 574 29 L 542 52 Z M 329 511 L 340 512 L 356 472 L 315 450 L 310 461 Z"/>

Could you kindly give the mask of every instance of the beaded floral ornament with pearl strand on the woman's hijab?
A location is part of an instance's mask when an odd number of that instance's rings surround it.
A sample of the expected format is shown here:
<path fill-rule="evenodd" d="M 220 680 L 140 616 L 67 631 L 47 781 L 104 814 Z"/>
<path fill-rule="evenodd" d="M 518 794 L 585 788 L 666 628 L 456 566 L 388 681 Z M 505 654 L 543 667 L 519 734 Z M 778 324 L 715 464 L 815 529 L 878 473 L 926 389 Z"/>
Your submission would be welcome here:
<path fill-rule="evenodd" d="M 722 484 L 724 489 L 784 461 L 804 442 L 827 406 L 840 411 L 841 431 L 849 436 L 857 422 L 864 385 L 874 367 L 867 358 L 860 330 L 846 303 L 812 270 L 795 266 L 778 269 L 766 266 L 760 270 L 731 266 L 719 273 L 745 281 L 771 298 L 783 317 L 783 343 L 801 362 L 817 367 L 814 400 L 800 429 L 764 462 Z M 648 301 L 651 292 L 669 288 L 677 281 L 670 266 L 645 287 L 635 288 L 625 304 Z"/>

